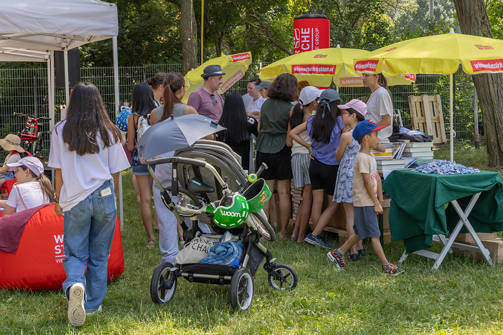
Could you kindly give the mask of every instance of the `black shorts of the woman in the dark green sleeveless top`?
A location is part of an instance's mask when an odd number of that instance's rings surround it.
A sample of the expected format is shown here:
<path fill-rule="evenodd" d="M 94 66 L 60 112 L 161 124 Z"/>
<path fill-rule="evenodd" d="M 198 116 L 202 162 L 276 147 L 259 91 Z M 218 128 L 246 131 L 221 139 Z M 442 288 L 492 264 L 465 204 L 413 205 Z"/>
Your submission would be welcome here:
<path fill-rule="evenodd" d="M 262 163 L 267 164 L 267 170 L 259 177 L 265 180 L 285 180 L 292 179 L 292 148 L 286 145 L 280 152 L 274 154 L 266 154 L 257 151 L 256 170 L 260 168 Z"/>

